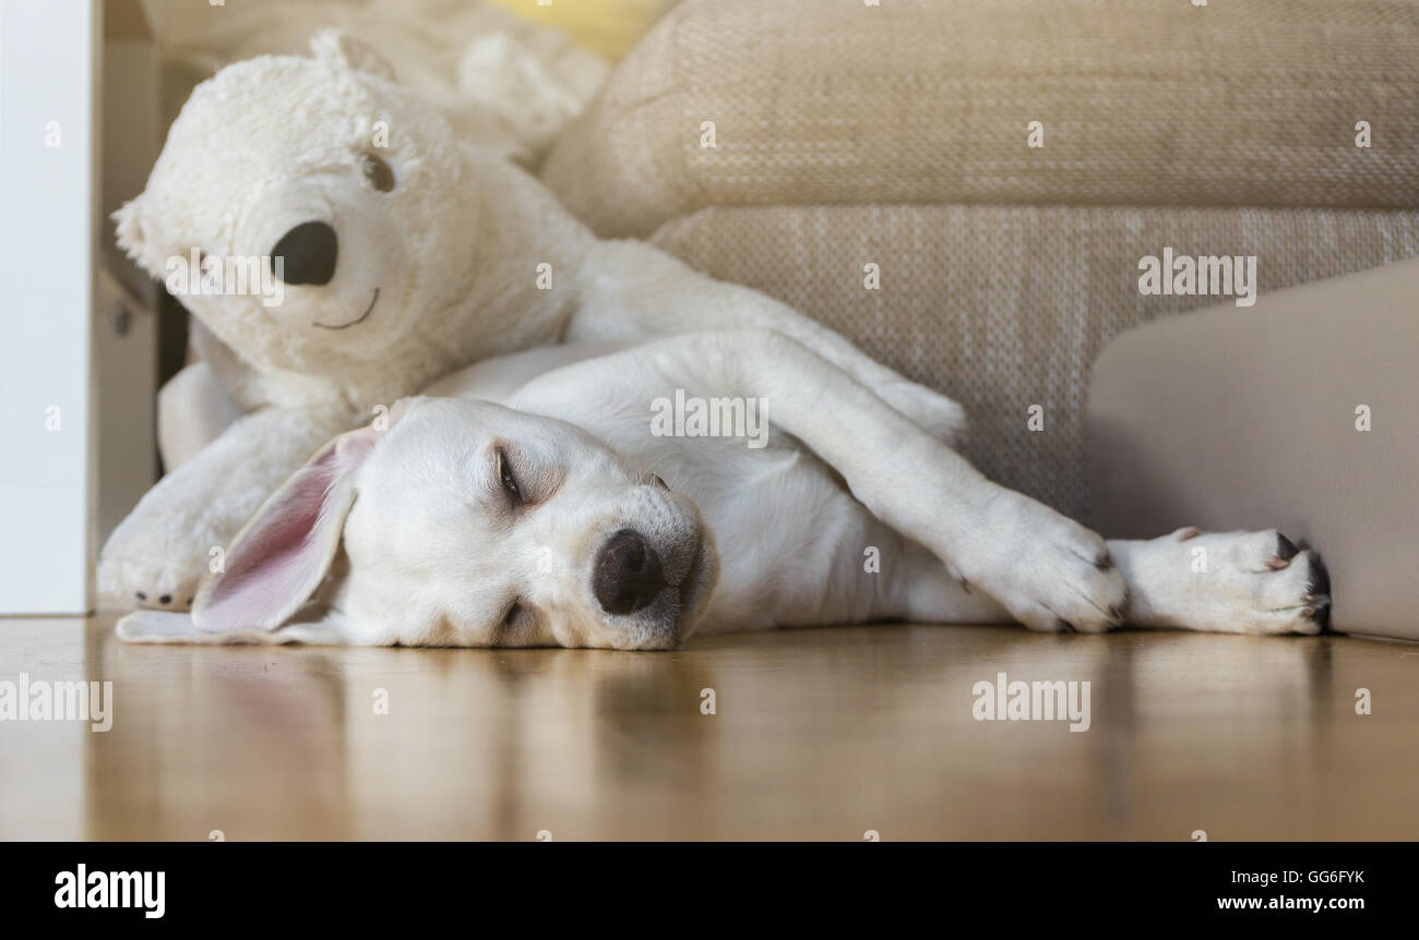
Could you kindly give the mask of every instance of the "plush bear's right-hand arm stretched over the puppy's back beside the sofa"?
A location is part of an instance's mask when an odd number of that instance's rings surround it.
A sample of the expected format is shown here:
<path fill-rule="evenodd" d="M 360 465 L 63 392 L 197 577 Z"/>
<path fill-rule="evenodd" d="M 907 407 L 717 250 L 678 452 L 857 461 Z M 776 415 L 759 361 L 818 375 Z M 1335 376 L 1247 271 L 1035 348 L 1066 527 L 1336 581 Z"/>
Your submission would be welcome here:
<path fill-rule="evenodd" d="M 833 363 L 939 441 L 954 442 L 965 427 L 959 404 L 877 363 L 826 326 L 758 291 L 702 275 L 644 242 L 597 242 L 586 254 L 578 284 L 569 342 L 771 329 Z"/>

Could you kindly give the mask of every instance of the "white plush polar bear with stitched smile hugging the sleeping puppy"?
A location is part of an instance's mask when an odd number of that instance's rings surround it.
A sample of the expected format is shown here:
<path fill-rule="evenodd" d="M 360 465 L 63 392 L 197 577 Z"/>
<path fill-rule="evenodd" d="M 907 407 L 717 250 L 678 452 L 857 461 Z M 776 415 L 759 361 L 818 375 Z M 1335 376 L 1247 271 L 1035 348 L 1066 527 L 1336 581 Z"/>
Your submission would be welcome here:
<path fill-rule="evenodd" d="M 119 244 L 201 323 L 204 364 L 177 387 L 213 374 L 244 414 L 114 532 L 106 604 L 186 610 L 322 442 L 446 373 L 538 345 L 769 328 L 932 432 L 961 425 L 958 405 L 785 305 L 644 242 L 597 240 L 370 47 L 312 45 L 314 58 L 258 57 L 197 86 L 145 191 L 115 216 Z"/>

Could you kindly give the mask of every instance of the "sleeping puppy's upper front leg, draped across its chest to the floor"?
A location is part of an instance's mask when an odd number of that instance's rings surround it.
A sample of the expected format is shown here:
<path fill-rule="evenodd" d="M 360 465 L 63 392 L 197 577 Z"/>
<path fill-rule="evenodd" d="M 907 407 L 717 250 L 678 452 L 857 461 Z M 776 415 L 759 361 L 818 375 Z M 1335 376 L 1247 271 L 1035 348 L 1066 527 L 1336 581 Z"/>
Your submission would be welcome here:
<path fill-rule="evenodd" d="M 647 374 L 651 370 L 653 374 Z M 551 373 L 529 390 L 556 403 L 587 383 L 634 401 L 671 394 L 762 401 L 762 417 L 830 464 L 878 519 L 927 546 L 954 576 L 1034 630 L 1121 621 L 1124 580 L 1104 540 L 992 483 L 867 386 L 773 330 L 666 339 Z"/>

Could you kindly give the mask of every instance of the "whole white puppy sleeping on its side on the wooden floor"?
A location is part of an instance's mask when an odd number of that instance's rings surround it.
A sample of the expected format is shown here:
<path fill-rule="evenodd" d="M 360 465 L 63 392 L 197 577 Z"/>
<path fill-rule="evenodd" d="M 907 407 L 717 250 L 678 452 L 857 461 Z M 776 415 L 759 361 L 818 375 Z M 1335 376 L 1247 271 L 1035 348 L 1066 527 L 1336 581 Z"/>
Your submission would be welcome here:
<path fill-rule="evenodd" d="M 771 431 L 653 420 L 690 398 L 762 403 Z M 888 620 L 1314 634 L 1330 610 L 1274 530 L 1105 543 L 762 329 L 473 366 L 321 448 L 221 569 L 119 635 L 673 649 Z"/>

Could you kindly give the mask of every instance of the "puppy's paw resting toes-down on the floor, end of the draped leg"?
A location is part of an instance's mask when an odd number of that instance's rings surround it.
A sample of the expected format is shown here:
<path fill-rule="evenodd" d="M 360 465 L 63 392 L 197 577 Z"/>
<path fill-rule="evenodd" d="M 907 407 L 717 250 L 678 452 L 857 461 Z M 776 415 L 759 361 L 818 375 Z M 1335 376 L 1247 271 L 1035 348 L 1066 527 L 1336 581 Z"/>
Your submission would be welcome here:
<path fill-rule="evenodd" d="M 1103 632 L 1122 624 L 1124 578 L 1104 539 L 1029 496 L 1000 491 L 959 570 L 1030 630 Z"/>

